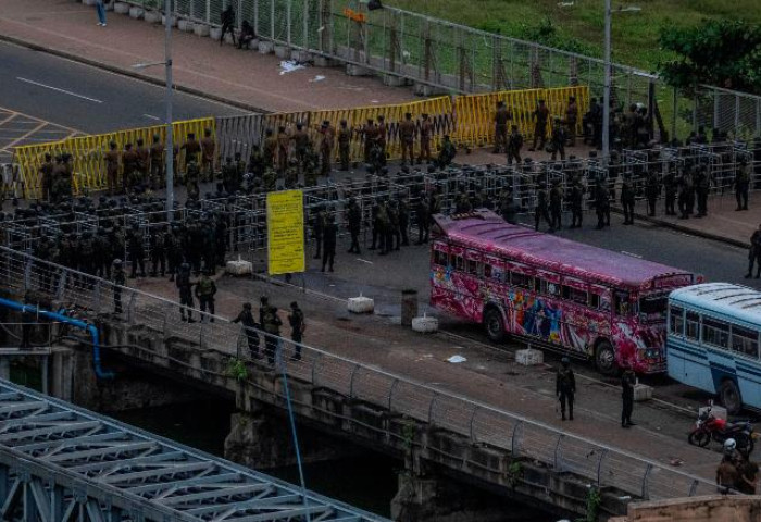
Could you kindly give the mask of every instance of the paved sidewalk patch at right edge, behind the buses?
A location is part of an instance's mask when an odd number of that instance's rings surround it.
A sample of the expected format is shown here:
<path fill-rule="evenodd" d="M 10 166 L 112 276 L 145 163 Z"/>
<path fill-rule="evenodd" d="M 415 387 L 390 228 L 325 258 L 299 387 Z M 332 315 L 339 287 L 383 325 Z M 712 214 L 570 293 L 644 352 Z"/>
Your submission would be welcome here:
<path fill-rule="evenodd" d="M 679 220 L 677 216 L 665 215 L 662 200 L 658 201 L 654 217 L 648 217 L 645 201 L 637 203 L 635 212 L 636 219 L 641 221 L 737 247 L 748 247 L 750 236 L 761 224 L 761 207 L 753 202 L 754 199 L 756 195 L 751 192 L 748 210 L 736 211 L 734 192 L 712 195 L 708 200 L 708 215 L 701 219 L 693 215 L 688 220 Z"/>

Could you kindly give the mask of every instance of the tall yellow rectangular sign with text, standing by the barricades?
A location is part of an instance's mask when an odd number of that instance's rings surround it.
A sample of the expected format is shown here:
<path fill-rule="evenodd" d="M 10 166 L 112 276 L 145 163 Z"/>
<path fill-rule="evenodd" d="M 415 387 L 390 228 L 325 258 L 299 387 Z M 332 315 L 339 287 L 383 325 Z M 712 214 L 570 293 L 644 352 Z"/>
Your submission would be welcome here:
<path fill-rule="evenodd" d="M 301 190 L 266 195 L 266 228 L 270 275 L 304 272 L 304 197 Z"/>

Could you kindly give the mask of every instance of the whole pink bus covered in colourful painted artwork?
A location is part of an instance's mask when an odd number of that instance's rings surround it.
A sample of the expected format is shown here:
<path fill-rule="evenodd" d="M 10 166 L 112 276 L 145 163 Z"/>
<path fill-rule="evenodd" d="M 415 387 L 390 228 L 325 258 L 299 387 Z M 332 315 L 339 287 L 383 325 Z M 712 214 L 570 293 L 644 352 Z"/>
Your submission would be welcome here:
<path fill-rule="evenodd" d="M 589 358 L 604 374 L 665 371 L 669 293 L 696 276 L 671 266 L 506 223 L 488 210 L 435 215 L 431 304 Z"/>

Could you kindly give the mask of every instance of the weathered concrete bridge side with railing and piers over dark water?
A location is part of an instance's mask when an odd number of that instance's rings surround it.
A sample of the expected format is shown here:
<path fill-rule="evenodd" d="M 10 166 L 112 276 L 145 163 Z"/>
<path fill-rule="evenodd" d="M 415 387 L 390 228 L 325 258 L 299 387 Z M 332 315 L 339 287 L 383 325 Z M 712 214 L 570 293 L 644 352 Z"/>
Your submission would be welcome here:
<path fill-rule="evenodd" d="M 714 490 L 708 474 L 682 472 L 326 350 L 302 346 L 300 361 L 278 357 L 270 368 L 248 358 L 245 333 L 222 318 L 183 323 L 176 303 L 132 288 L 116 289 L 125 312 L 115 315 L 110 283 L 13 250 L 0 253 L 9 294 L 53 308 L 77 304 L 99 326 L 104 346 L 132 364 L 234 394 L 240 412 L 228 457 L 254 468 L 282 459 L 287 450 L 258 442 L 272 431 L 262 412 L 284 411 L 289 397 L 300 423 L 403 459 L 395 518 L 441 520 L 435 492 L 442 476 L 564 514 L 585 513 L 592 490 L 600 494 L 603 515 L 624 514 L 631 500 Z M 290 341 L 282 343 L 285 349 Z M 53 366 L 71 365 L 70 359 Z M 53 390 L 64 396 L 62 377 L 82 375 L 71 366 L 51 371 Z"/>

